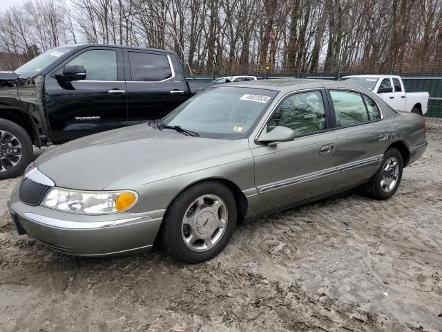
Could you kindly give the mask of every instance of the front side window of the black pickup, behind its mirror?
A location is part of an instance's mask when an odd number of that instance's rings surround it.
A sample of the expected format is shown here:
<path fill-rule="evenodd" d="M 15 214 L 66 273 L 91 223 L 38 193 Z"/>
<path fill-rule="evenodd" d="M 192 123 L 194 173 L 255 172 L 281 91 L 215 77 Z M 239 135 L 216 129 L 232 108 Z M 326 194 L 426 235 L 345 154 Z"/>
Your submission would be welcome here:
<path fill-rule="evenodd" d="M 115 50 L 86 50 L 66 64 L 66 66 L 75 65 L 84 66 L 86 80 L 117 80 L 117 52 Z"/>

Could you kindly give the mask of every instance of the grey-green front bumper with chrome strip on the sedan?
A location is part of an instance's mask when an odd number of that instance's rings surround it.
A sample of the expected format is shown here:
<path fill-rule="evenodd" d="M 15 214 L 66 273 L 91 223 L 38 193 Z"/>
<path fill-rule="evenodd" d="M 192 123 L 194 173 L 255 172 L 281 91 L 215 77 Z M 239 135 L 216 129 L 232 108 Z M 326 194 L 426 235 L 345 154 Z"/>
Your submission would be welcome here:
<path fill-rule="evenodd" d="M 18 188 L 8 202 L 19 234 L 70 255 L 103 257 L 144 252 L 153 246 L 165 210 L 97 216 L 26 205 Z"/>

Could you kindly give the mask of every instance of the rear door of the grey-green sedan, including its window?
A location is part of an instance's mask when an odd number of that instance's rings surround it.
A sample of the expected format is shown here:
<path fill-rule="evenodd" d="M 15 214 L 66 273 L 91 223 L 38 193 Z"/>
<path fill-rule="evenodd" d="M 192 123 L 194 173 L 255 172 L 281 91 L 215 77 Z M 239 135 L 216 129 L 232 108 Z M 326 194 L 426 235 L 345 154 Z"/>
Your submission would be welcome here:
<path fill-rule="evenodd" d="M 383 150 L 392 138 L 392 129 L 369 96 L 347 89 L 330 89 L 327 94 L 336 121 L 335 189 L 339 190 L 363 183 L 376 172 Z"/>

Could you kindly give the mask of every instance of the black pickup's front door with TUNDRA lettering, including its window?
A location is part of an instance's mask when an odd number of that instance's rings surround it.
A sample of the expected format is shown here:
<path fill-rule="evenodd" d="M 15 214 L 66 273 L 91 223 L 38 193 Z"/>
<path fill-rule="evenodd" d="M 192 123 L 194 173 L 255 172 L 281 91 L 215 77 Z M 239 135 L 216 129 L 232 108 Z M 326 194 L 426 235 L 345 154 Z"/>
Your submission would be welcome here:
<path fill-rule="evenodd" d="M 84 66 L 85 80 L 59 82 L 63 68 Z M 92 46 L 74 53 L 45 77 L 48 122 L 55 143 L 127 125 L 121 48 Z"/>

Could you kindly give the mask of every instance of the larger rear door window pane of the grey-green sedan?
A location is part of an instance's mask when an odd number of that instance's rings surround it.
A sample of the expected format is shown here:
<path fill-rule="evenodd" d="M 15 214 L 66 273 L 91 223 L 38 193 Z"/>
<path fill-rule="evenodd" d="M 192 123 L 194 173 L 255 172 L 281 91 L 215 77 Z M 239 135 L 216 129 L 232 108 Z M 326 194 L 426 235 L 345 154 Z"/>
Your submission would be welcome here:
<path fill-rule="evenodd" d="M 353 91 L 330 91 L 336 127 L 347 127 L 368 122 L 368 113 L 361 93 Z"/>

